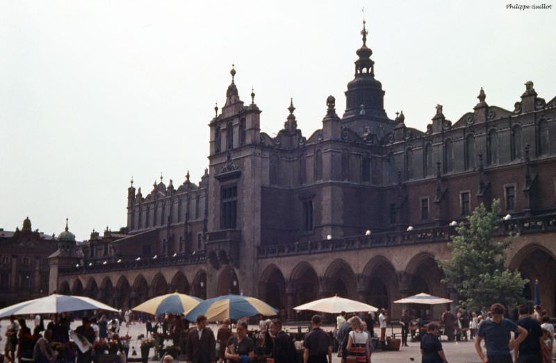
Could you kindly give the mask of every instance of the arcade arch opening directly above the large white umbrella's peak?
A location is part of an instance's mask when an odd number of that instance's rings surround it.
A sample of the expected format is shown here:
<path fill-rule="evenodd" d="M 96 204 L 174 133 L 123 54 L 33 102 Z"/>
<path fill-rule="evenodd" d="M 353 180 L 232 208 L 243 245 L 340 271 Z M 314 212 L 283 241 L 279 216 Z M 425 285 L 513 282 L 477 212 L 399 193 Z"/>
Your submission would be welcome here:
<path fill-rule="evenodd" d="M 357 278 L 350 264 L 338 258 L 325 271 L 323 290 L 330 295 L 357 298 Z"/>

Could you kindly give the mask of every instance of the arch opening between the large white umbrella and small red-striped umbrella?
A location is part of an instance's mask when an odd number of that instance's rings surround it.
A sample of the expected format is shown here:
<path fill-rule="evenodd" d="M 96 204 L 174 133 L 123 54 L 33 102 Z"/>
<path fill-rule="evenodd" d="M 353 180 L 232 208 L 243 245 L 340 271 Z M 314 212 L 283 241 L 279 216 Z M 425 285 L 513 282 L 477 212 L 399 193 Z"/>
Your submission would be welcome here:
<path fill-rule="evenodd" d="M 365 293 L 363 301 L 375 307 L 391 310 L 391 302 L 398 295 L 399 284 L 395 268 L 389 259 L 375 256 L 363 269 Z"/>

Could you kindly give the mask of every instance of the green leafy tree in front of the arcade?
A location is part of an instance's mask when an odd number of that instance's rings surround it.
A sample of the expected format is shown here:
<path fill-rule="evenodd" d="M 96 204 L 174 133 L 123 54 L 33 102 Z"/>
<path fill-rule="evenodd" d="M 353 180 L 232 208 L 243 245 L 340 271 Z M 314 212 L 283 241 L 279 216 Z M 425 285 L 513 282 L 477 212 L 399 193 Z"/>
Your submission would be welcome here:
<path fill-rule="evenodd" d="M 500 200 L 492 202 L 491 211 L 481 203 L 467 219 L 468 223 L 457 226 L 457 235 L 449 244 L 450 259 L 439 261 L 445 275 L 443 282 L 456 289 L 460 305 L 467 310 L 480 310 L 492 303 L 523 303 L 527 280 L 518 271 L 504 267 L 505 249 L 512 239 L 497 237 L 502 221 Z"/>

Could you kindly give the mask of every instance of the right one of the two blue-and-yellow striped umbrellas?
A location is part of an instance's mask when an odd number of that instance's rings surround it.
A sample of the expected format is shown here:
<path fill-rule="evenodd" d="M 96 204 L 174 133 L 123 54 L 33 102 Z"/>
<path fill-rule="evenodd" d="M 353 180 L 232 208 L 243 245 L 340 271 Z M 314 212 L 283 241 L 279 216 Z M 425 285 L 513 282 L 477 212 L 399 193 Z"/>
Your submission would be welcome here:
<path fill-rule="evenodd" d="M 274 307 L 258 298 L 228 294 L 202 301 L 186 314 L 186 319 L 195 321 L 198 315 L 204 315 L 208 321 L 222 321 L 257 314 L 273 316 L 276 313 L 277 310 Z"/>

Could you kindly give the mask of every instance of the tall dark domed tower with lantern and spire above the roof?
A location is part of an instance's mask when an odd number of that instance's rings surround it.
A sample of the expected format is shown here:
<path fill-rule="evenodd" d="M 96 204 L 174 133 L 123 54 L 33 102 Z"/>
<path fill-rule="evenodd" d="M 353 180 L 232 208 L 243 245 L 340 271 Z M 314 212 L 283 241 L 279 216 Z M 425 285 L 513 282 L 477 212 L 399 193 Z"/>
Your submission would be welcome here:
<path fill-rule="evenodd" d="M 365 24 L 363 20 L 363 45 L 357 49 L 359 58 L 355 61 L 355 78 L 347 83 L 342 121 L 359 134 L 372 133 L 381 139 L 395 125 L 384 111 L 384 91 L 382 83 L 375 78 L 375 62 L 370 59 L 373 51 L 367 47 Z"/>

